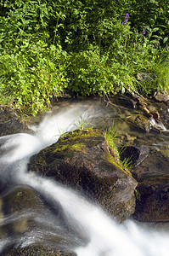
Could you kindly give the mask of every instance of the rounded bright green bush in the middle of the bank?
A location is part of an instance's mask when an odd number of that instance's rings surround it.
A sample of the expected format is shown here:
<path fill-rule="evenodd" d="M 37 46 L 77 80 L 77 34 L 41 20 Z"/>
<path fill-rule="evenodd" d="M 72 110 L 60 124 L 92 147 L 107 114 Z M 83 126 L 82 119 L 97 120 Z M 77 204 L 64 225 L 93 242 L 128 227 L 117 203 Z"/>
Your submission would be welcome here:
<path fill-rule="evenodd" d="M 71 56 L 69 89 L 77 95 L 89 96 L 114 91 L 114 74 L 99 50 L 84 50 Z"/>

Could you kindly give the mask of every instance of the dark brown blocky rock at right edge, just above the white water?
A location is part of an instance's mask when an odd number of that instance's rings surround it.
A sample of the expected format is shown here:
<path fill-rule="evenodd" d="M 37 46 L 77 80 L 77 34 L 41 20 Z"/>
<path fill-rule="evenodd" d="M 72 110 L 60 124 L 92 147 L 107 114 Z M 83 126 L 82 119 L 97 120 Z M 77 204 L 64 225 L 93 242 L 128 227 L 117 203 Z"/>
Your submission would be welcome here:
<path fill-rule="evenodd" d="M 149 177 L 138 182 L 136 210 L 139 221 L 169 221 L 169 175 Z"/>

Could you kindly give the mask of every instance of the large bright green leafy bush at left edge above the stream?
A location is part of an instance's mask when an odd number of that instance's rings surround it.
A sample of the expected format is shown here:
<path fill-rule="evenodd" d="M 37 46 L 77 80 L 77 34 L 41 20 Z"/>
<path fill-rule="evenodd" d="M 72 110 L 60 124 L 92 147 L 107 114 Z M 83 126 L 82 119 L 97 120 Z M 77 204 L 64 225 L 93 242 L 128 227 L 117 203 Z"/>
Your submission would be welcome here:
<path fill-rule="evenodd" d="M 0 61 L 1 94 L 14 102 L 15 108 L 36 114 L 48 107 L 54 96 L 67 86 L 65 56 L 54 45 L 42 41 L 24 44 L 14 54 L 2 55 Z"/>

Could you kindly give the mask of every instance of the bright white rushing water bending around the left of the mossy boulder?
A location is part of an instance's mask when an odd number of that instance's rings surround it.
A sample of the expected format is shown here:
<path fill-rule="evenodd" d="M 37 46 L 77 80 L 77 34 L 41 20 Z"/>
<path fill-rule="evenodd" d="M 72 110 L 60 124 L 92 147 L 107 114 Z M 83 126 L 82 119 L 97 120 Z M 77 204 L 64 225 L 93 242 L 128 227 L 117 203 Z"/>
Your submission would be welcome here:
<path fill-rule="evenodd" d="M 27 172 L 26 164 L 32 154 L 54 143 L 60 136 L 60 131 L 75 129 L 76 109 L 67 110 L 54 116 L 46 117 L 38 126 L 32 126 L 35 135 L 16 134 L 0 137 L 1 150 L 1 180 L 16 185 L 31 186 L 46 201 L 52 201 L 63 209 L 67 224 L 71 229 L 85 237 L 82 244 L 77 241 L 71 247 L 78 256 L 166 256 L 169 252 L 169 234 L 164 231 L 146 229 L 132 220 L 124 224 L 116 224 L 103 209 L 87 201 L 72 189 L 45 177 L 39 177 L 34 172 Z M 82 113 L 84 114 L 84 113 Z M 12 167 L 11 167 L 12 166 Z M 54 213 L 53 213 L 54 214 Z M 39 222 L 44 216 L 40 216 Z M 44 221 L 43 221 L 44 222 Z M 48 217 L 45 230 L 49 225 L 57 223 Z M 38 241 L 39 230 L 28 234 L 25 240 L 21 237 L 19 244 L 23 247 Z M 45 231 L 44 231 L 45 232 Z M 53 230 L 54 232 L 54 230 Z M 37 238 L 36 238 L 37 237 Z M 0 241 L 0 247 L 8 244 L 10 238 Z"/>

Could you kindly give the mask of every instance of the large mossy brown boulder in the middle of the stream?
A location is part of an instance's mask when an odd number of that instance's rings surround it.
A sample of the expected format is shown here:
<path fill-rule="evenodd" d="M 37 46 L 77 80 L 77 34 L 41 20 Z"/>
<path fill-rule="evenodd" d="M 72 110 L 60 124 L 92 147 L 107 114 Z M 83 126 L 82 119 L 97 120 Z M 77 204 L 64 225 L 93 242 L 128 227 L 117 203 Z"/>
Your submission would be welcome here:
<path fill-rule="evenodd" d="M 137 183 L 112 157 L 99 130 L 61 137 L 31 157 L 28 169 L 81 191 L 120 221 L 134 212 Z"/>

